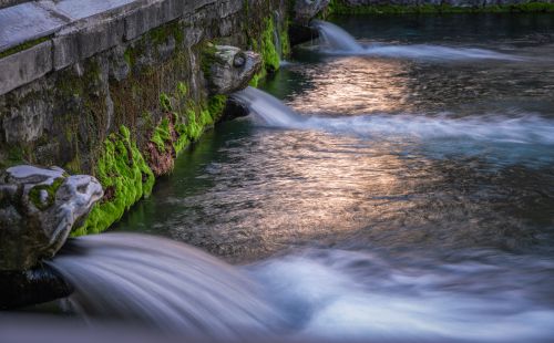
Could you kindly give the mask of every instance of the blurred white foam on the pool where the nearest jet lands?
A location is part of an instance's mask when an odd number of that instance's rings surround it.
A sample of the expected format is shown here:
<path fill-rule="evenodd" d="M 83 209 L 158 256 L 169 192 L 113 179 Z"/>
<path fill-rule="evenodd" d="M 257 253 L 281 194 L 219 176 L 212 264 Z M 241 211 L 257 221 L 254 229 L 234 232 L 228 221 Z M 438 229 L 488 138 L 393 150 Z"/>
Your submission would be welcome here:
<path fill-rule="evenodd" d="M 450 264 L 410 258 L 410 263 L 397 264 L 372 253 L 325 250 L 273 259 L 252 272 L 276 303 L 296 315 L 306 336 L 548 341 L 554 336 L 554 309 L 533 299 L 550 293 L 534 282 L 552 281 L 553 262 L 519 266 L 513 257 L 495 258 Z M 507 262 L 501 262 L 503 258 Z"/>

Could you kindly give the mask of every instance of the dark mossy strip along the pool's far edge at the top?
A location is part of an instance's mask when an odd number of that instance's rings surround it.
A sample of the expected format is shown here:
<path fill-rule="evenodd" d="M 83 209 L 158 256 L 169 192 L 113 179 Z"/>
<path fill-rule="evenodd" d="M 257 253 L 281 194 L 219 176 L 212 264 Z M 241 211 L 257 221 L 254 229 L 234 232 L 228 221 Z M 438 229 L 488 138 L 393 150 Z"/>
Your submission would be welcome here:
<path fill-rule="evenodd" d="M 500 6 L 455 7 L 450 4 L 371 4 L 349 6 L 341 0 L 331 0 L 326 14 L 409 14 L 409 13 L 510 13 L 554 12 L 554 3 L 524 2 Z"/>

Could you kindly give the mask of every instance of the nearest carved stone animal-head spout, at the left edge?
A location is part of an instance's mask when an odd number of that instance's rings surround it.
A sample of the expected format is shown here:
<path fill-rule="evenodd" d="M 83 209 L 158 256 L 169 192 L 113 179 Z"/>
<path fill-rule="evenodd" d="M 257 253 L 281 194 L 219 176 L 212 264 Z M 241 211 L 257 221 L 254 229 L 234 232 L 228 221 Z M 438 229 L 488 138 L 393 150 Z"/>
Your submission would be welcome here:
<path fill-rule="evenodd" d="M 16 166 L 0 174 L 0 270 L 27 270 L 52 257 L 102 198 L 92 176 Z"/>

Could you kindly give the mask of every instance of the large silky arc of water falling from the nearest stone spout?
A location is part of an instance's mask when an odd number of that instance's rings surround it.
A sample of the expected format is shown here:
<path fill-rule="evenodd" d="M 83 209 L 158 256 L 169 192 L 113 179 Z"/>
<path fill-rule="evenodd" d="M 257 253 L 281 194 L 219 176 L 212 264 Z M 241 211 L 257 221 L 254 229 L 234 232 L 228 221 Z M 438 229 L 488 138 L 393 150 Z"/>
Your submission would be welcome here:
<path fill-rule="evenodd" d="M 237 269 L 167 239 L 104 233 L 70 240 L 49 264 L 75 288 L 85 319 L 115 318 L 171 332 L 233 337 L 278 323 L 257 285 Z"/>

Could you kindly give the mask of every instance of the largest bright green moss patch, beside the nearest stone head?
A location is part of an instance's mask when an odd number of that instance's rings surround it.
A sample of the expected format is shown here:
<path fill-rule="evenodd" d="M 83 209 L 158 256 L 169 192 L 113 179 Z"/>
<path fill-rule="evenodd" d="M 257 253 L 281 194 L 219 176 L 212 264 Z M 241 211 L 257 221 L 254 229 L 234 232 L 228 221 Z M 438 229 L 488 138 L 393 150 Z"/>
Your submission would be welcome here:
<path fill-rule="evenodd" d="M 154 186 L 154 174 L 125 126 L 105 139 L 94 174 L 104 188 L 104 200 L 94 206 L 84 225 L 73 236 L 107 229 L 133 204 L 148 196 Z"/>

